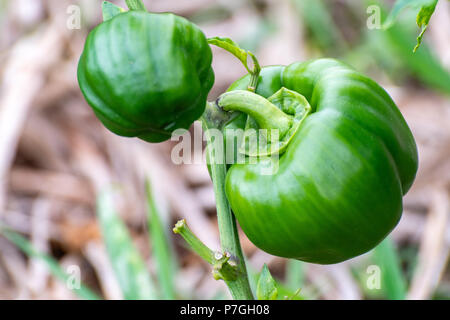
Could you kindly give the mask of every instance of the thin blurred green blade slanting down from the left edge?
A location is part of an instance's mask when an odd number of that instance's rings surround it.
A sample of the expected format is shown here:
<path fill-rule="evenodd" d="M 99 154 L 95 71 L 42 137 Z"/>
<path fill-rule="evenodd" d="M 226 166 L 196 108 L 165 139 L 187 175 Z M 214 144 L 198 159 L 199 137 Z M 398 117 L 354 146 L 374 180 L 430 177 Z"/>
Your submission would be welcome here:
<path fill-rule="evenodd" d="M 27 256 L 44 262 L 47 265 L 48 269 L 50 270 L 51 274 L 55 278 L 63 282 L 66 285 L 66 288 L 73 291 L 81 299 L 86 300 L 100 299 L 100 297 L 97 294 L 92 292 L 89 288 L 87 288 L 83 284 L 80 284 L 79 288 L 76 288 L 76 286 L 72 285 L 69 286 L 68 284 L 72 282 L 72 276 L 66 273 L 55 259 L 53 259 L 49 255 L 39 252 L 36 248 L 33 247 L 31 242 L 29 242 L 26 238 L 22 237 L 17 232 L 0 226 L 0 234 L 2 234 L 6 239 L 14 243 L 14 245 L 16 245 L 20 250 L 22 250 Z"/>

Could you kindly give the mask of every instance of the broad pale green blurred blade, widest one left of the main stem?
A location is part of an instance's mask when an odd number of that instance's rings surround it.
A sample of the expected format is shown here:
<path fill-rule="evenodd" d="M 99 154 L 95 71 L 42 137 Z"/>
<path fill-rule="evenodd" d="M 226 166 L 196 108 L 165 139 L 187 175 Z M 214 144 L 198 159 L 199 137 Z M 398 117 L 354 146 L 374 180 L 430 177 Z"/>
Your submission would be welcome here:
<path fill-rule="evenodd" d="M 114 209 L 112 191 L 104 191 L 99 195 L 97 215 L 106 249 L 125 299 L 156 299 L 146 265 Z"/>

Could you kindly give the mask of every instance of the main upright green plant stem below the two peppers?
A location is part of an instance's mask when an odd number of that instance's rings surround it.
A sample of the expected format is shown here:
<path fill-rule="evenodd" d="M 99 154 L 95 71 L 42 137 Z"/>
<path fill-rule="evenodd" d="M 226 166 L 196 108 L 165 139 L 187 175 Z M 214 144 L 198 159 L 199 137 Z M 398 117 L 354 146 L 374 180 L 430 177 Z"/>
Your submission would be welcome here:
<path fill-rule="evenodd" d="M 208 108 L 215 108 L 214 104 L 207 104 Z M 208 113 L 208 110 L 206 111 Z M 236 300 L 253 300 L 253 294 L 250 289 L 250 284 L 247 276 L 247 268 L 245 266 L 244 254 L 242 252 L 239 241 L 239 234 L 237 231 L 236 220 L 231 212 L 230 204 L 228 203 L 225 194 L 225 177 L 226 164 L 224 153 L 215 152 L 212 147 L 217 144 L 217 141 L 212 141 L 212 136 L 209 134 L 209 129 L 220 129 L 214 125 L 214 122 L 208 116 L 202 117 L 203 130 L 205 131 L 208 156 L 211 169 L 211 179 L 214 186 L 214 195 L 216 198 L 217 219 L 219 225 L 220 242 L 224 252 L 231 255 L 231 259 L 237 264 L 237 277 L 235 280 L 225 280 L 231 295 Z M 221 141 L 223 146 L 223 140 Z M 220 158 L 222 157 L 222 158 Z"/>

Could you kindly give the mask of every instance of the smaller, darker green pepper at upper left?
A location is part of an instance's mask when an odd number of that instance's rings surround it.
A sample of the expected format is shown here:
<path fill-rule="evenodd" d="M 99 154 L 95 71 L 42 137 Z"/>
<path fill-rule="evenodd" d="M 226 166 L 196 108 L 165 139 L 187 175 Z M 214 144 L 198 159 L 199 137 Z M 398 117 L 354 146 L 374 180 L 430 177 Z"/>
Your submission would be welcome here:
<path fill-rule="evenodd" d="M 161 142 L 205 110 L 212 53 L 194 24 L 170 13 L 121 13 L 89 34 L 78 82 L 112 132 Z"/>

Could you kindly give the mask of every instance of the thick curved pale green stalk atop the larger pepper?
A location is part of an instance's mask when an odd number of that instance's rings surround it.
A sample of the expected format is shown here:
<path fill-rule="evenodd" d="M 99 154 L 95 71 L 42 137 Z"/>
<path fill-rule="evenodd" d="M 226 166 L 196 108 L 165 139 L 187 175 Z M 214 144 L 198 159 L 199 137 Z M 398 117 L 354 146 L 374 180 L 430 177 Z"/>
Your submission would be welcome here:
<path fill-rule="evenodd" d="M 236 90 L 224 93 L 217 105 L 225 111 L 240 111 L 251 116 L 261 129 L 279 130 L 283 138 L 292 128 L 293 117 L 285 114 L 264 97 L 250 91 Z"/>

